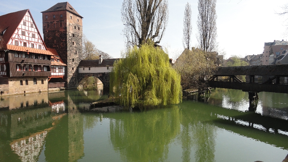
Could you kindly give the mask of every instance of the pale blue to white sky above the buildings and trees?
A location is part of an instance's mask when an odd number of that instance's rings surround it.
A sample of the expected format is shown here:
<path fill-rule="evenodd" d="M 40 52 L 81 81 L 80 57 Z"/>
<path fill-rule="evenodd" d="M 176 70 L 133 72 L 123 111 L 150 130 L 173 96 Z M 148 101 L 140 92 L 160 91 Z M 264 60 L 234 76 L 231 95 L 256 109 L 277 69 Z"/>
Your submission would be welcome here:
<path fill-rule="evenodd" d="M 3 0 L 4 1 L 4 0 Z M 189 2 L 192 8 L 192 46 L 197 46 L 197 1 L 198 0 L 168 0 L 169 20 L 160 45 L 167 49 L 170 58 L 175 58 L 184 50 L 183 16 L 185 4 Z M 0 3 L 0 15 L 19 10 L 30 9 L 35 23 L 42 32 L 42 13 L 58 2 L 56 0 L 9 0 Z M 119 58 L 125 49 L 121 21 L 122 0 L 70 0 L 73 8 L 83 18 L 83 34 L 92 41 L 98 49 Z M 217 0 L 217 42 L 219 51 L 225 52 L 225 58 L 231 55 L 244 57 L 263 52 L 265 42 L 288 40 L 284 35 L 287 29 L 288 15 L 279 16 L 281 6 L 286 0 Z M 0 22 L 1 25 L 1 22 Z"/>

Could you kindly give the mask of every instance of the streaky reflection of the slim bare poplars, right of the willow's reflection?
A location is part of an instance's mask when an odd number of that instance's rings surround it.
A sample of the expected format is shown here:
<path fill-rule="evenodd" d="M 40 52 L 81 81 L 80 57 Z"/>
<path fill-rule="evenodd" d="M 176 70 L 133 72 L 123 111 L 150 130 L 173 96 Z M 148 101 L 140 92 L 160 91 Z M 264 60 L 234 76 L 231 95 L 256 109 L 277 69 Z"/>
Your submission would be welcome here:
<path fill-rule="evenodd" d="M 192 145 L 195 146 L 195 159 L 197 162 L 215 161 L 215 137 L 216 130 L 210 125 L 210 112 L 203 106 L 203 103 L 195 103 L 198 109 L 189 109 L 189 102 L 183 102 L 180 109 L 180 122 L 182 125 L 181 133 L 179 134 L 182 145 L 182 161 L 190 161 L 190 152 Z"/>

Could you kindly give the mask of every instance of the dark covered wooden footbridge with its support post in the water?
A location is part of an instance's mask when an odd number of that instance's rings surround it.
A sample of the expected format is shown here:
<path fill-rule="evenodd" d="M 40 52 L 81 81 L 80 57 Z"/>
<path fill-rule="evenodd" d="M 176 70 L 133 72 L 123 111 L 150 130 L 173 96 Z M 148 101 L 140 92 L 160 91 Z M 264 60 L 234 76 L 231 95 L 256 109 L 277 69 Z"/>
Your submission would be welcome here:
<path fill-rule="evenodd" d="M 249 82 L 243 82 L 237 77 L 241 75 L 249 76 Z M 219 76 L 226 76 L 228 80 L 219 80 Z M 255 82 L 255 76 L 261 76 L 264 80 Z M 246 91 L 249 93 L 250 106 L 254 106 L 254 101 L 258 99 L 258 92 L 288 93 L 288 84 L 284 84 L 282 81 L 283 77 L 287 76 L 288 64 L 218 67 L 208 80 L 208 85 L 214 88 Z"/>

